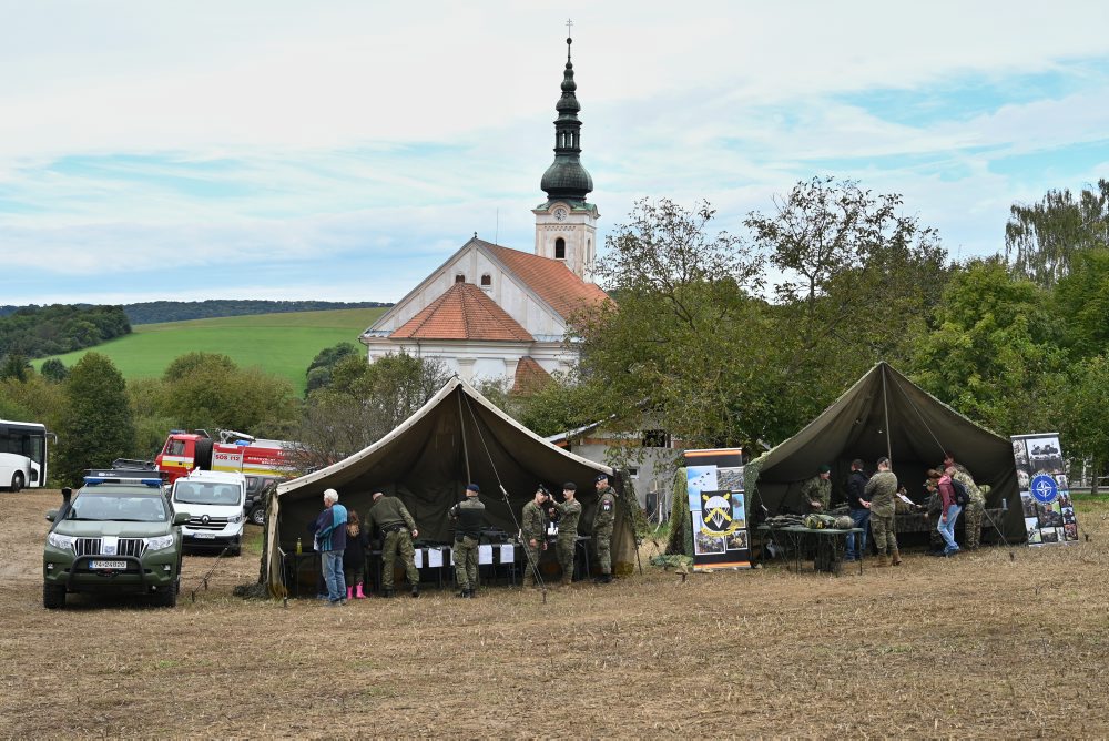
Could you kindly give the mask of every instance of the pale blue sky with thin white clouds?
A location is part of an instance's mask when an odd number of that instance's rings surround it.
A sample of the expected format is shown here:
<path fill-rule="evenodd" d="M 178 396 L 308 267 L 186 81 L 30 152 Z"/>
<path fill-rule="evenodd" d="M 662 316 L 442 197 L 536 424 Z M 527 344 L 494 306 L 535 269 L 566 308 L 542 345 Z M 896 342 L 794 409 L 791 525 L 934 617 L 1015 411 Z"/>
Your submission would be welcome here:
<path fill-rule="evenodd" d="M 530 252 L 568 19 L 601 237 L 831 175 L 963 260 L 1109 177 L 1101 0 L 0 0 L 0 304 L 391 302 L 475 232 Z"/>

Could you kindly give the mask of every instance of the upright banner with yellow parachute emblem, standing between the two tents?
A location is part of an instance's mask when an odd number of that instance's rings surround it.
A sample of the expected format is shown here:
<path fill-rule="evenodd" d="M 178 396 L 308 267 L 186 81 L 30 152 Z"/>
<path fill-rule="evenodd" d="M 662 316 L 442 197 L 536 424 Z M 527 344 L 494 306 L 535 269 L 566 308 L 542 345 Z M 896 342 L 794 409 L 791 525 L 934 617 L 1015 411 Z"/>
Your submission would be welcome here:
<path fill-rule="evenodd" d="M 693 519 L 693 570 L 751 568 L 743 467 L 685 468 Z"/>

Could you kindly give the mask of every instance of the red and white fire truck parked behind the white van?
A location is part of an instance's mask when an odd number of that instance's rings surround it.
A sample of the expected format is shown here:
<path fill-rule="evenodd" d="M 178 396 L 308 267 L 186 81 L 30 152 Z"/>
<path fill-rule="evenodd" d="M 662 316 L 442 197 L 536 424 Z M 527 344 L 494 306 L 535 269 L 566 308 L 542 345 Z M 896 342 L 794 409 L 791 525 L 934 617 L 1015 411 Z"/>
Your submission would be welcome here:
<path fill-rule="evenodd" d="M 203 429 L 174 429 L 154 460 L 171 483 L 194 468 L 284 478 L 292 473 L 288 451 L 294 447 L 294 443 L 257 439 L 230 429 L 221 430 L 218 441 Z"/>

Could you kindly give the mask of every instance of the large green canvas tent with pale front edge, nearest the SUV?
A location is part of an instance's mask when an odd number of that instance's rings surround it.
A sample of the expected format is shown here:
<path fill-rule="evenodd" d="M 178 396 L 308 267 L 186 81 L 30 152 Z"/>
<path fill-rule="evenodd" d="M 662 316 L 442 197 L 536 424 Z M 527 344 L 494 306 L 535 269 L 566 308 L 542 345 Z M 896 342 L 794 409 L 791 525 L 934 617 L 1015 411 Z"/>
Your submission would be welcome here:
<path fill-rule="evenodd" d="M 455 377 L 374 445 L 277 487 L 267 524 L 268 579 L 274 587 L 281 582 L 278 549 L 287 554 L 298 538 L 307 542 L 306 528 L 319 514 L 328 488 L 339 493 L 348 509 L 363 515 L 374 491 L 397 496 L 416 519 L 421 542 L 449 545 L 454 530 L 447 510 L 465 497 L 470 481 L 481 488 L 490 527 L 509 536 L 516 535 L 520 510 L 537 485 L 561 498 L 562 484 L 574 481 L 582 505 L 578 532 L 591 535 L 598 499 L 593 478 L 601 473 L 622 493 L 618 473 L 548 443 Z M 620 501 L 628 498 L 621 496 Z M 612 566 L 618 573 L 630 573 L 635 560 L 633 520 L 628 514 L 628 506 L 617 508 Z"/>

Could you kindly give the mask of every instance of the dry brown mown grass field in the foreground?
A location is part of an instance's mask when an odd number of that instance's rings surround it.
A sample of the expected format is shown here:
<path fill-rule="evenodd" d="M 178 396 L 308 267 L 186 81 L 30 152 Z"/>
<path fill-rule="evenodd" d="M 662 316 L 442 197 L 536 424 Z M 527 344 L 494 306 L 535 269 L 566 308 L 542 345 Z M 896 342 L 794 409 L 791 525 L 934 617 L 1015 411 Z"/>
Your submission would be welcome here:
<path fill-rule="evenodd" d="M 176 609 L 48 612 L 58 500 L 0 494 L 3 737 L 1109 734 L 1103 503 L 1079 506 L 1078 546 L 862 576 L 648 566 L 546 603 L 498 587 L 286 608 L 232 596 L 256 554 L 186 556 Z"/>

